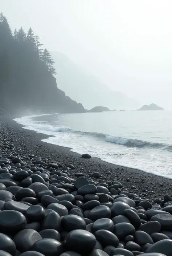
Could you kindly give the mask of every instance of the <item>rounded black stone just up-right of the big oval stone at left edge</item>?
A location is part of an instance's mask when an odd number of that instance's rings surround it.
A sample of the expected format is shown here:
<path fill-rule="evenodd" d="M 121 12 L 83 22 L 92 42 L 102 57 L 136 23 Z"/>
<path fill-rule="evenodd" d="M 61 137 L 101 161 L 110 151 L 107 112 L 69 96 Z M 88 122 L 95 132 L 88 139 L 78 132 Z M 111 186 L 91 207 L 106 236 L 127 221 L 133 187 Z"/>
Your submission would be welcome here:
<path fill-rule="evenodd" d="M 45 217 L 45 210 L 42 206 L 34 205 L 30 206 L 26 210 L 26 218 L 34 222 L 41 222 Z"/>

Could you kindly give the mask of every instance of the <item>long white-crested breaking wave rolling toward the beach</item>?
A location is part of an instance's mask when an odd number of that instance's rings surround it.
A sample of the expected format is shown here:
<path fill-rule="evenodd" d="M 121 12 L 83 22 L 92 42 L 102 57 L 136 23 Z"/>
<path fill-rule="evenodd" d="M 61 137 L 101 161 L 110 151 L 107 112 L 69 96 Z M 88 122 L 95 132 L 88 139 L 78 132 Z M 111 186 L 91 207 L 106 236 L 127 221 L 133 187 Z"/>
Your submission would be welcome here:
<path fill-rule="evenodd" d="M 31 126 L 31 124 L 29 124 L 29 126 Z M 163 150 L 172 152 L 172 145 L 164 144 L 164 143 L 148 142 L 148 141 L 142 141 L 139 139 L 132 139 L 132 138 L 122 138 L 122 137 L 110 136 L 108 134 L 89 132 L 89 131 L 77 131 L 64 126 L 53 127 L 52 125 L 32 124 L 32 127 L 33 129 L 41 130 L 41 131 L 52 131 L 56 133 L 72 133 L 78 136 L 87 136 L 87 137 L 97 138 L 109 143 L 115 143 L 115 144 L 123 145 L 127 147 L 139 147 L 139 148 L 148 147 L 151 149 L 163 149 Z"/>

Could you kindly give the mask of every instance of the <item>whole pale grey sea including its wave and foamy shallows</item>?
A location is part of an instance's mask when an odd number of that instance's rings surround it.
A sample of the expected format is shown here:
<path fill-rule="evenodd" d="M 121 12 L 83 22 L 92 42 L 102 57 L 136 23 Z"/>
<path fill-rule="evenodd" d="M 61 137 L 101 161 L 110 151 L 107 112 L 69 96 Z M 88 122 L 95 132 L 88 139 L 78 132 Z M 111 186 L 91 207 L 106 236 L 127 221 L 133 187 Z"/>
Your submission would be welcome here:
<path fill-rule="evenodd" d="M 172 178 L 172 111 L 45 114 L 14 119 L 42 141 Z"/>

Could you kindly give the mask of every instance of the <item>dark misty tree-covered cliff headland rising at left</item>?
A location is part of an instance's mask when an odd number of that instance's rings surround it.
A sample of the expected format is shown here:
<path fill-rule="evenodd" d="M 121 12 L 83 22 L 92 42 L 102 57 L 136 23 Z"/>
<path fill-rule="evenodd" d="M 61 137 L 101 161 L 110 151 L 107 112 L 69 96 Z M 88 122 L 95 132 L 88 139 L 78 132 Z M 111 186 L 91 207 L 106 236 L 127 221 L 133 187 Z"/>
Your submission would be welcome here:
<path fill-rule="evenodd" d="M 22 29 L 12 34 L 7 19 L 1 14 L 0 113 L 85 112 L 80 103 L 57 88 L 56 78 L 41 60 L 39 50 Z"/>

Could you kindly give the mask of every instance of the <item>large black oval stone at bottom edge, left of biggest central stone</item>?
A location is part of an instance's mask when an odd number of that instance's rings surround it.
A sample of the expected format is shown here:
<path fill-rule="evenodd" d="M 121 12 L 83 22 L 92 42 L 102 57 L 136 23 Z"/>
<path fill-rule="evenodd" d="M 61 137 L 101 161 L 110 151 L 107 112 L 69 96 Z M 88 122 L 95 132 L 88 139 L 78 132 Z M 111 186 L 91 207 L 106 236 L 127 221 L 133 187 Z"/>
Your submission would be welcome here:
<path fill-rule="evenodd" d="M 62 244 L 52 238 L 43 238 L 32 245 L 32 251 L 37 251 L 45 256 L 59 256 L 63 252 Z"/>

